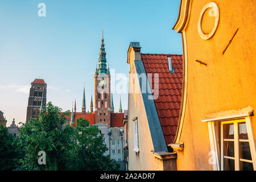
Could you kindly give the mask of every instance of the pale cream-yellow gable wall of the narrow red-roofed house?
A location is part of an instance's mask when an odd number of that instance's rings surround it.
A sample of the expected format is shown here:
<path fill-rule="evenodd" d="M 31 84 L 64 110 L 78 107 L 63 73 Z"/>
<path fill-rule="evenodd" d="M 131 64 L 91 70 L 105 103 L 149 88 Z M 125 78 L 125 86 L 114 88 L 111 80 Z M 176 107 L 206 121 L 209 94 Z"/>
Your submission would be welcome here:
<path fill-rule="evenodd" d="M 133 49 L 133 48 L 131 48 Z M 134 67 L 134 59 L 140 60 L 140 54 L 134 55 L 134 51 L 130 52 L 130 72 Z M 136 58 L 135 58 L 136 57 Z M 132 78 L 129 78 L 129 89 L 133 90 Z M 138 78 L 135 77 L 135 86 L 139 86 Z M 139 89 L 139 87 L 138 87 Z M 134 89 L 135 91 L 136 89 Z M 163 162 L 155 158 L 151 153 L 154 150 L 152 146 L 152 140 L 150 130 L 148 127 L 146 111 L 144 109 L 142 94 L 141 93 L 130 93 L 129 94 L 129 108 L 128 108 L 128 144 L 129 144 L 129 170 L 145 170 L 145 171 L 158 171 L 163 170 Z M 134 148 L 134 137 L 133 137 L 133 119 L 138 117 L 138 135 L 139 135 L 139 152 L 135 152 Z"/>

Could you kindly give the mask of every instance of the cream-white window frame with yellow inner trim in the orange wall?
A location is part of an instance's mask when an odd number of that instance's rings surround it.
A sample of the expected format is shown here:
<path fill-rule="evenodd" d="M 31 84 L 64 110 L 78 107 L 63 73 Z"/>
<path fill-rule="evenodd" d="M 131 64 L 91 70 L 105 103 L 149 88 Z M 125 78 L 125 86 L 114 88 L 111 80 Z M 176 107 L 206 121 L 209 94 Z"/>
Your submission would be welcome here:
<path fill-rule="evenodd" d="M 210 118 L 210 119 L 203 119 L 202 122 L 207 122 L 208 123 L 208 130 L 209 130 L 209 138 L 210 138 L 210 148 L 211 148 L 211 154 L 212 155 L 212 164 L 213 164 L 213 170 L 214 171 L 220 171 L 224 169 L 224 153 L 223 153 L 223 130 L 222 130 L 222 126 L 225 123 L 238 123 L 239 122 L 245 122 L 246 123 L 246 129 L 247 129 L 247 135 L 248 135 L 248 141 L 249 145 L 250 145 L 250 151 L 251 151 L 251 159 L 252 159 L 252 163 L 253 163 L 253 168 L 254 171 L 256 170 L 256 148 L 255 148 L 255 138 L 254 138 L 254 133 L 253 133 L 253 127 L 251 125 L 251 113 L 252 111 L 249 111 L 247 113 L 242 113 L 242 114 L 233 114 L 233 115 L 226 115 L 226 116 L 222 116 L 222 117 L 216 117 L 216 118 Z M 239 119 L 239 120 L 238 120 Z M 221 138 L 219 141 L 218 137 L 217 137 L 217 130 L 216 130 L 216 123 L 215 122 L 221 122 Z M 235 130 L 235 128 L 234 128 Z M 235 137 L 235 136 L 234 136 Z M 238 135 L 237 135 L 238 137 Z M 235 139 L 235 143 L 239 142 L 238 139 Z M 234 146 L 234 150 L 235 151 L 239 151 L 239 149 L 237 148 L 237 144 L 236 146 Z M 237 153 L 237 152 L 236 152 Z M 236 158 L 235 160 L 237 162 L 235 162 L 235 170 L 239 170 L 240 169 L 240 164 L 239 164 L 239 154 L 235 154 L 234 158 Z M 245 161 L 245 160 L 241 160 L 241 161 Z M 245 161 L 247 162 L 247 161 Z"/>

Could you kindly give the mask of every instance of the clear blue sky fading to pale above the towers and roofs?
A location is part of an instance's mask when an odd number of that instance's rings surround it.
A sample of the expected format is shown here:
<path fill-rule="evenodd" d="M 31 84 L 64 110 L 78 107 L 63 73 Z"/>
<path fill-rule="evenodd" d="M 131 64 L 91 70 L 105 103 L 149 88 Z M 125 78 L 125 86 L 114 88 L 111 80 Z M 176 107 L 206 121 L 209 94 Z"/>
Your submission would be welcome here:
<path fill-rule="evenodd" d="M 38 4 L 46 4 L 46 17 Z M 104 30 L 106 59 L 115 73 L 128 76 L 130 42 L 140 42 L 143 53 L 182 53 L 181 36 L 172 30 L 179 0 L 1 0 L 0 110 L 7 126 L 13 118 L 26 120 L 28 92 L 35 78 L 47 83 L 47 102 L 63 110 L 77 102 L 81 111 L 85 82 L 89 107 L 93 74 Z M 119 97 L 127 109 L 127 94 Z"/>

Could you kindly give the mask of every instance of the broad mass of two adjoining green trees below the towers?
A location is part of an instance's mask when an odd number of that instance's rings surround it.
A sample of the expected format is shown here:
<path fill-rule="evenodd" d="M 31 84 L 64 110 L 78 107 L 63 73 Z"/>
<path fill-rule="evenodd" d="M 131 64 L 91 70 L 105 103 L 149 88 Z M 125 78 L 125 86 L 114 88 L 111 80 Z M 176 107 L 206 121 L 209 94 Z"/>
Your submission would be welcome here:
<path fill-rule="evenodd" d="M 30 119 L 20 128 L 16 140 L 19 153 L 19 170 L 117 170 L 119 164 L 105 156 L 108 150 L 103 134 L 87 119 L 77 119 L 77 126 L 64 126 L 70 111 L 49 102 L 39 114 L 39 119 Z M 46 154 L 46 164 L 39 164 L 40 151 Z"/>

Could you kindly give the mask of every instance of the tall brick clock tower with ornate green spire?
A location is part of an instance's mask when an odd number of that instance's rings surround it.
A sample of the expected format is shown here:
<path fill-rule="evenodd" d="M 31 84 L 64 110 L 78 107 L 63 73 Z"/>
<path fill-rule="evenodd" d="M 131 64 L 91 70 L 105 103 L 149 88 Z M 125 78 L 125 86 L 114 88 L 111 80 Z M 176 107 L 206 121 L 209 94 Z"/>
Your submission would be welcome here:
<path fill-rule="evenodd" d="M 104 35 L 102 31 L 100 57 L 94 75 L 95 90 L 95 122 L 104 123 L 110 127 L 110 72 L 106 65 Z"/>

